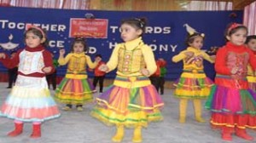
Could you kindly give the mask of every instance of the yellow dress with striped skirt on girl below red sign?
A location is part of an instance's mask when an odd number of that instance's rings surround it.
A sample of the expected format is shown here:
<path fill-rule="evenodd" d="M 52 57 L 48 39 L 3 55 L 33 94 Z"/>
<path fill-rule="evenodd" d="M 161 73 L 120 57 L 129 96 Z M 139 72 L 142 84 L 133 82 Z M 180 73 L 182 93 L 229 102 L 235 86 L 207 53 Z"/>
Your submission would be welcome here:
<path fill-rule="evenodd" d="M 55 99 L 64 104 L 83 105 L 93 100 L 95 91 L 88 79 L 86 66 L 94 69 L 97 62 L 92 62 L 90 56 L 83 53 L 70 53 L 58 60 L 61 66 L 67 64 L 67 74 L 55 90 Z"/>

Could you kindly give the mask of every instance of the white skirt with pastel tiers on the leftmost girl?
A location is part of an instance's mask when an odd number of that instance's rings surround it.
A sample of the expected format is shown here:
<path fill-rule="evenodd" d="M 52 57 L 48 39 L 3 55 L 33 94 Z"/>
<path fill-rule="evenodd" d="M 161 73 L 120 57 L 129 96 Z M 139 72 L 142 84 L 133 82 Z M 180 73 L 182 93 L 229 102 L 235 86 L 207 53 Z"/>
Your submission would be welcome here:
<path fill-rule="evenodd" d="M 51 97 L 45 77 L 18 75 L 1 107 L 0 116 L 23 122 L 44 122 L 61 114 Z"/>

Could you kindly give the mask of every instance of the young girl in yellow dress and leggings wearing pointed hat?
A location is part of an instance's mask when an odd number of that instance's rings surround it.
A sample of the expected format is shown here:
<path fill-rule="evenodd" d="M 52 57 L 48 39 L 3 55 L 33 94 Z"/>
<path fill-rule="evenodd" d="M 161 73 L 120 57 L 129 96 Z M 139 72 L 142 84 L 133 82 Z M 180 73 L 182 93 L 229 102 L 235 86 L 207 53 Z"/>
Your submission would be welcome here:
<path fill-rule="evenodd" d="M 201 50 L 204 34 L 188 31 L 186 43 L 188 48 L 172 57 L 173 62 L 183 60 L 183 73 L 174 85 L 174 95 L 180 99 L 179 102 L 179 123 L 186 122 L 186 108 L 188 100 L 193 100 L 195 109 L 195 120 L 203 123 L 201 117 L 201 100 L 206 99 L 210 94 L 212 84 L 204 70 L 203 60 L 213 63 L 214 60 Z"/>

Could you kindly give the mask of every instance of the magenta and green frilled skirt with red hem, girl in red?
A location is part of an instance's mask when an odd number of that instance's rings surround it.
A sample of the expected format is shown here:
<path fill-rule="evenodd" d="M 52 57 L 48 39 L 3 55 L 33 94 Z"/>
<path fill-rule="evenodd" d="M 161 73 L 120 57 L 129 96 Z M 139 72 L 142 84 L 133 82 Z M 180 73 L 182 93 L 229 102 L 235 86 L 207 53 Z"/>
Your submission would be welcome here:
<path fill-rule="evenodd" d="M 212 112 L 211 123 L 214 128 L 252 128 L 256 129 L 256 93 L 247 89 L 247 81 L 236 88 L 228 83 L 228 76 L 222 78 L 222 85 L 213 86 L 212 92 L 206 102 L 206 108 Z M 236 83 L 236 80 L 234 82 Z"/>

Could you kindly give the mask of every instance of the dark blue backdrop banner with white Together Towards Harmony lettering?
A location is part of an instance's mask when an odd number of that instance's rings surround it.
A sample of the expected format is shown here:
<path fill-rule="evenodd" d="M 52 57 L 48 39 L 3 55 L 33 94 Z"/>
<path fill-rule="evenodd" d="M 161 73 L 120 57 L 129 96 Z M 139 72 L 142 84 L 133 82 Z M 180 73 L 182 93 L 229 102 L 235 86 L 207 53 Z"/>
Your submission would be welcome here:
<path fill-rule="evenodd" d="M 71 49 L 73 37 L 87 38 L 87 54 L 94 60 L 96 54 L 108 61 L 116 43 L 122 43 L 119 32 L 120 21 L 127 18 L 145 17 L 148 20 L 143 35 L 154 51 L 155 59 L 167 61 L 167 80 L 175 80 L 182 72 L 183 63 L 173 63 L 172 56 L 187 46 L 184 43 L 188 34 L 186 28 L 194 28 L 206 35 L 203 50 L 224 45 L 224 29 L 230 22 L 242 21 L 242 11 L 183 11 L 183 12 L 122 12 L 68 9 L 30 9 L 0 7 L 0 52 L 10 53 L 24 48 L 24 31 L 27 24 L 40 26 L 47 31 L 49 51 L 59 56 L 59 49 Z M 85 19 L 93 15 L 95 19 Z M 233 16 L 236 15 L 236 16 Z M 213 65 L 205 62 L 207 76 L 213 77 Z M 64 76 L 67 66 L 57 69 Z M 0 71 L 7 69 L 0 64 Z M 92 77 L 93 73 L 89 72 Z M 107 77 L 113 78 L 115 72 Z"/>

